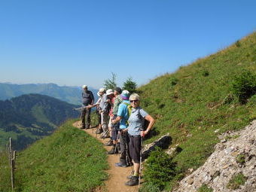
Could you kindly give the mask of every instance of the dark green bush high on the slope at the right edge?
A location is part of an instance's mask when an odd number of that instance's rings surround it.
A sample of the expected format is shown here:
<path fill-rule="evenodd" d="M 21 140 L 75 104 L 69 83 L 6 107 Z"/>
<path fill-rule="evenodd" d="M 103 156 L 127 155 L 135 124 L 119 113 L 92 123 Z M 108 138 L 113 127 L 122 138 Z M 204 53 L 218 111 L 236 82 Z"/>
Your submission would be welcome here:
<path fill-rule="evenodd" d="M 234 78 L 232 91 L 240 103 L 246 103 L 247 99 L 256 93 L 256 75 L 244 70 Z"/>

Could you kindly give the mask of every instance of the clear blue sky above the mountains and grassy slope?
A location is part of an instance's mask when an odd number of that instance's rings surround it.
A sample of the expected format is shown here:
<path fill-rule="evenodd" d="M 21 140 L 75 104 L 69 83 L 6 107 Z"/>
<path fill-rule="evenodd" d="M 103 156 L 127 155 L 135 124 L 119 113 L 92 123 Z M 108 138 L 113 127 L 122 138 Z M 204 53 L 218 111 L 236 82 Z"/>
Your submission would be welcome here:
<path fill-rule="evenodd" d="M 0 82 L 139 85 L 256 29 L 254 0 L 0 0 Z"/>

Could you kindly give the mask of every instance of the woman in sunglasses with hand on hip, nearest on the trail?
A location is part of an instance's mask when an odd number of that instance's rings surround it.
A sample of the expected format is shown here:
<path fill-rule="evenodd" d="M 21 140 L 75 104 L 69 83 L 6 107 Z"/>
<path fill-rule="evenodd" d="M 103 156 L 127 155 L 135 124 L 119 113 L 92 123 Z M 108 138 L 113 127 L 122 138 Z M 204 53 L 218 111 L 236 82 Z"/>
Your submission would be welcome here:
<path fill-rule="evenodd" d="M 127 127 L 128 136 L 129 136 L 129 149 L 130 149 L 130 157 L 133 159 L 133 175 L 128 176 L 130 181 L 126 182 L 126 185 L 134 186 L 139 184 L 139 174 L 141 167 L 141 149 L 142 149 L 142 139 L 148 132 L 151 130 L 154 125 L 154 118 L 151 117 L 146 111 L 144 111 L 140 106 L 140 98 L 137 93 L 133 93 L 130 96 L 130 105 L 133 107 Z M 148 126 L 145 130 L 143 130 L 145 120 L 148 120 Z"/>

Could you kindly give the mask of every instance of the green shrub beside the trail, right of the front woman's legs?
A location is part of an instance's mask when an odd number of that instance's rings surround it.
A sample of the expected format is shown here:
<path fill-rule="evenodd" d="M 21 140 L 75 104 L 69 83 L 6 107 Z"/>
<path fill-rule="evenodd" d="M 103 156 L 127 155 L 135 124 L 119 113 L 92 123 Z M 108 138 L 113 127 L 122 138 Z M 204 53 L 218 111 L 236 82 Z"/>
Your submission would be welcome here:
<path fill-rule="evenodd" d="M 172 157 L 156 148 L 151 152 L 145 163 L 145 182 L 146 185 L 154 185 L 157 189 L 163 190 L 166 184 L 176 175 L 176 163 L 172 162 Z"/>

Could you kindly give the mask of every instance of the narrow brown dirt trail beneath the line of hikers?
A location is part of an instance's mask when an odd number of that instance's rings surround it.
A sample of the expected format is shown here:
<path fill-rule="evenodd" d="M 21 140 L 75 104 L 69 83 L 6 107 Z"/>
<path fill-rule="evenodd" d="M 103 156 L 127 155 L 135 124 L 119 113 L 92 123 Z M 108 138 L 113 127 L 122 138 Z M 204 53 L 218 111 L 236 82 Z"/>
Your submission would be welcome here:
<path fill-rule="evenodd" d="M 77 127 L 77 128 L 81 128 L 81 121 L 77 121 L 75 123 L 73 123 L 73 126 Z M 89 130 L 84 130 L 85 132 L 87 132 L 88 134 L 90 134 L 90 136 L 95 137 L 96 139 L 99 140 L 99 142 L 102 142 L 103 144 L 105 142 L 108 141 L 108 139 L 100 139 L 99 135 L 94 134 L 94 132 L 96 131 L 96 128 L 93 129 L 89 129 Z M 109 151 L 111 149 L 111 147 L 109 146 L 105 146 L 104 148 Z M 129 179 L 126 178 L 126 176 L 130 175 L 131 171 L 132 171 L 132 167 L 116 167 L 114 166 L 114 163 L 119 162 L 119 154 L 111 154 L 108 155 L 108 165 L 109 165 L 109 169 L 106 171 L 108 172 L 109 178 L 107 181 L 105 181 L 105 186 L 103 187 L 99 187 L 96 189 L 96 192 L 105 192 L 105 191 L 109 191 L 109 192 L 118 192 L 118 191 L 122 191 L 122 192 L 136 192 L 138 191 L 138 186 L 126 186 L 124 183 L 126 181 L 128 181 Z"/>

